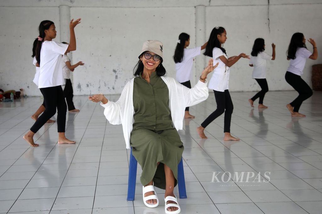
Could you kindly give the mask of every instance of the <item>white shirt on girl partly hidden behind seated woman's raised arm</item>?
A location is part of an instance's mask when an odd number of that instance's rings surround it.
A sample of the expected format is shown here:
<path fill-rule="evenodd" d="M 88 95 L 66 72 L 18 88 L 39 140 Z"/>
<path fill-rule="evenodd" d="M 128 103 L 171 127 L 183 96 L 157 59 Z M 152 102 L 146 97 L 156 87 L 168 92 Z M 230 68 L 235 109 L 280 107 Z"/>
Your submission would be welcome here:
<path fill-rule="evenodd" d="M 185 48 L 183 50 L 183 59 L 181 63 L 175 64 L 176 80 L 186 82 L 191 79 L 191 69 L 195 56 L 200 55 L 201 47 Z"/>

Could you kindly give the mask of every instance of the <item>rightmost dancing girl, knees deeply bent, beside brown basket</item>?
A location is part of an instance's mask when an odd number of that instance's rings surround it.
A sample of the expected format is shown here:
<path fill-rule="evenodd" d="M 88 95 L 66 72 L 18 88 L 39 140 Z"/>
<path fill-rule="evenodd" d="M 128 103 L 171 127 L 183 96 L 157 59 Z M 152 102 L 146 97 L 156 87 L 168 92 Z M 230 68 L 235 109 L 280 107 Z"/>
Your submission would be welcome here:
<path fill-rule="evenodd" d="M 305 115 L 298 113 L 298 110 L 304 100 L 311 97 L 313 94 L 312 89 L 301 78 L 303 69 L 307 58 L 317 59 L 317 45 L 313 39 L 308 39 L 308 42 L 313 46 L 313 54 L 306 48 L 306 39 L 303 33 L 294 33 L 291 42 L 289 43 L 289 49 L 287 53 L 287 59 L 290 60 L 289 68 L 285 74 L 285 80 L 289 83 L 297 92 L 298 97 L 286 107 L 292 116 L 305 117 Z"/>

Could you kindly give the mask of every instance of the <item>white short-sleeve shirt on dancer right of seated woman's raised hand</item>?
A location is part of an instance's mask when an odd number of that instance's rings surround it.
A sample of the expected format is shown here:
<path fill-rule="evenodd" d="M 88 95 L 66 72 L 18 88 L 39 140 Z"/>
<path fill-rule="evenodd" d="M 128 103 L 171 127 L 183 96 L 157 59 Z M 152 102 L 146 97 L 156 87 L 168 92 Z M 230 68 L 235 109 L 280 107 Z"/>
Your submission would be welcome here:
<path fill-rule="evenodd" d="M 213 65 L 218 64 L 218 66 L 213 70 L 213 76 L 209 81 L 209 89 L 216 91 L 225 91 L 228 89 L 229 83 L 229 67 L 226 66 L 220 59 L 219 56 L 228 56 L 218 47 L 213 48 Z"/>

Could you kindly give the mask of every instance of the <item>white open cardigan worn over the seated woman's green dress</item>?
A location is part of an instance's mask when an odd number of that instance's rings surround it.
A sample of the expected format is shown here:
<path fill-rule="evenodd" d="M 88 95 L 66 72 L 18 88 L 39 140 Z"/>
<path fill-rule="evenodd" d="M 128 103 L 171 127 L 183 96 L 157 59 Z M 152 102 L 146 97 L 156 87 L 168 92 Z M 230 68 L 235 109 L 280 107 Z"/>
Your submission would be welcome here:
<path fill-rule="evenodd" d="M 192 89 L 189 89 L 172 77 L 161 76 L 161 78 L 169 89 L 172 123 L 176 130 L 180 130 L 185 117 L 185 107 L 196 105 L 208 98 L 207 82 L 198 81 Z M 127 149 L 131 148 L 130 135 L 134 122 L 133 82 L 134 78 L 126 83 L 118 101 L 100 104 L 105 108 L 104 115 L 110 124 L 122 124 Z"/>

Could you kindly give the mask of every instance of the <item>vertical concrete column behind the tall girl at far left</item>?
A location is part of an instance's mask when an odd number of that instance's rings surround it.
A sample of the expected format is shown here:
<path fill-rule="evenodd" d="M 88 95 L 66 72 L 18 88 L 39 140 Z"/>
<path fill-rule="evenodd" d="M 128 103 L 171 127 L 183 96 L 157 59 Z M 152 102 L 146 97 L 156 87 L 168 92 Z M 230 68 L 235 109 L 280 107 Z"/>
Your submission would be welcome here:
<path fill-rule="evenodd" d="M 69 31 L 70 21 L 71 21 L 70 7 L 67 5 L 60 5 L 59 6 L 60 42 L 69 42 L 70 40 L 70 31 Z M 69 53 L 68 56 L 72 61 L 72 54 Z M 73 72 L 71 72 L 71 81 L 72 81 L 72 73 Z"/>

